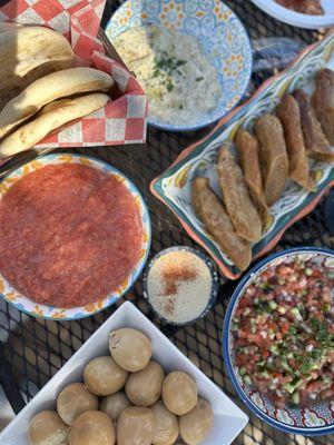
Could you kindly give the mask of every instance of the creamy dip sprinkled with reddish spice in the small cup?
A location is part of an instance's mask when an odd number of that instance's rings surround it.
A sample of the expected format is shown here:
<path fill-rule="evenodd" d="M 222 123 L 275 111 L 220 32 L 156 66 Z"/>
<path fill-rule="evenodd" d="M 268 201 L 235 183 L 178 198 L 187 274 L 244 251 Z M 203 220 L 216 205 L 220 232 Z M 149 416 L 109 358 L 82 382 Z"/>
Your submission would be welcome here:
<path fill-rule="evenodd" d="M 167 322 L 187 323 L 206 309 L 210 270 L 197 255 L 176 250 L 158 258 L 147 277 L 147 298 Z"/>

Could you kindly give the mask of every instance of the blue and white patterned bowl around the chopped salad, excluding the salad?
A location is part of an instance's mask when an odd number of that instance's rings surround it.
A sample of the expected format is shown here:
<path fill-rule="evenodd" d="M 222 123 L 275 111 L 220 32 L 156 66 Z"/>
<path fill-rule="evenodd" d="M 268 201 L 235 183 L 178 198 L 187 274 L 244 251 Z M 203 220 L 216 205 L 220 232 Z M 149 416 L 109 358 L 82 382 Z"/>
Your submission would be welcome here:
<path fill-rule="evenodd" d="M 223 329 L 223 352 L 227 372 L 237 394 L 247 408 L 262 421 L 284 433 L 305 436 L 334 433 L 334 400 L 321 402 L 311 407 L 285 406 L 284 408 L 277 408 L 268 397 L 261 394 L 254 386 L 245 385 L 234 363 L 232 320 L 245 290 L 264 269 L 281 264 L 291 257 L 297 256 L 306 260 L 316 255 L 325 257 L 328 267 L 334 269 L 334 251 L 315 247 L 284 250 L 259 261 L 245 275 L 235 289 L 226 312 Z"/>

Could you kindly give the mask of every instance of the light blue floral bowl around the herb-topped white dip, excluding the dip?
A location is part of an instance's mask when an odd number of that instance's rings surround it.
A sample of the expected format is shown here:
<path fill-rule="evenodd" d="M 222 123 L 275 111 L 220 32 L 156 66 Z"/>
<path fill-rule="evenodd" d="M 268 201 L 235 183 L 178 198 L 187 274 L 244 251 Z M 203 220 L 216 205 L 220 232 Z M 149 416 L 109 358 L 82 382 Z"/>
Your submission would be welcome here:
<path fill-rule="evenodd" d="M 169 131 L 208 126 L 232 110 L 244 96 L 252 75 L 252 47 L 245 28 L 220 0 L 128 0 L 111 17 L 106 33 L 112 39 L 129 28 L 158 24 L 198 39 L 218 71 L 223 96 L 215 110 L 187 126 L 169 125 L 149 116 L 148 122 Z"/>

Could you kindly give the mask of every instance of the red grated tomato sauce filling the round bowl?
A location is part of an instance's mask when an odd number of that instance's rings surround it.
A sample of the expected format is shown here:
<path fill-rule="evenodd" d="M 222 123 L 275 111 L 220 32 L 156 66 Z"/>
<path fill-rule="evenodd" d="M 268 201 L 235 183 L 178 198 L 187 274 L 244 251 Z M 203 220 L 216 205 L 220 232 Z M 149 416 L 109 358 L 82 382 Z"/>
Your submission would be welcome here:
<path fill-rule="evenodd" d="M 135 199 L 114 176 L 49 165 L 23 176 L 0 201 L 0 271 L 37 303 L 84 306 L 126 280 L 143 234 Z"/>

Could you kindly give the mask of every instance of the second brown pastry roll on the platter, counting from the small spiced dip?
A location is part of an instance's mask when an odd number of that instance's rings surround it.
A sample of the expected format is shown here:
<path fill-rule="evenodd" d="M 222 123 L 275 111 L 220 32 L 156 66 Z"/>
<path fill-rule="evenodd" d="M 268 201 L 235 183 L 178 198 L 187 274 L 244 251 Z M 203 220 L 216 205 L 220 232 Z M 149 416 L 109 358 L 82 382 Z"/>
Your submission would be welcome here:
<path fill-rule="evenodd" d="M 262 221 L 228 144 L 218 152 L 217 170 L 224 204 L 236 233 L 247 241 L 257 243 L 262 235 Z"/>

